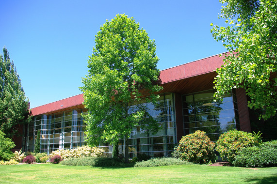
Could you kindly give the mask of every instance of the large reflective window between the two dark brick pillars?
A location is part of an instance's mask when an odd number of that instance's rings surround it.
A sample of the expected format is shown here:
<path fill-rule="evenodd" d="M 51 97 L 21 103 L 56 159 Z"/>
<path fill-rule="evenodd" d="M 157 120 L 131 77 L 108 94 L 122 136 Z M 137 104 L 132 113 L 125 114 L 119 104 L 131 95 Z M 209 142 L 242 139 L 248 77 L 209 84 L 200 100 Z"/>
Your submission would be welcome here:
<path fill-rule="evenodd" d="M 214 102 L 213 90 L 183 96 L 183 121 L 185 135 L 196 130 L 205 131 L 212 141 L 229 130 L 238 129 L 235 118 L 235 94 L 225 94 L 223 101 Z"/>

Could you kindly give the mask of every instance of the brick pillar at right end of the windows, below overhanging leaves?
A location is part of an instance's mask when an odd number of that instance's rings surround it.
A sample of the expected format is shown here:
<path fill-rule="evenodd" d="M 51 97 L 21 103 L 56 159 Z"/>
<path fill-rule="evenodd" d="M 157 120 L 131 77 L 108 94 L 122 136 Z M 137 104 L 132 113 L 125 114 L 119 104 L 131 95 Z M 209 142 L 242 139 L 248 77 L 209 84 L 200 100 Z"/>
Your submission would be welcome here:
<path fill-rule="evenodd" d="M 251 132 L 247 97 L 243 88 L 236 89 L 241 131 Z"/>

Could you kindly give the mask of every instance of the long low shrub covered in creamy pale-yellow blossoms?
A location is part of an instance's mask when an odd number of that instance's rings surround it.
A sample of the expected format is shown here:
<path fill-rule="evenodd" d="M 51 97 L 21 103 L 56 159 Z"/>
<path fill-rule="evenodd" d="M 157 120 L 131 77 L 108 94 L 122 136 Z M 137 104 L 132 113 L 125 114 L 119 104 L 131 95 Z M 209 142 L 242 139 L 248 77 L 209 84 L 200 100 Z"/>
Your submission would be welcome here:
<path fill-rule="evenodd" d="M 102 155 L 105 151 L 97 147 L 82 146 L 72 150 L 56 150 L 52 152 L 49 156 L 60 155 L 63 160 L 67 158 L 79 158 L 86 156 L 95 156 L 98 157 Z"/>

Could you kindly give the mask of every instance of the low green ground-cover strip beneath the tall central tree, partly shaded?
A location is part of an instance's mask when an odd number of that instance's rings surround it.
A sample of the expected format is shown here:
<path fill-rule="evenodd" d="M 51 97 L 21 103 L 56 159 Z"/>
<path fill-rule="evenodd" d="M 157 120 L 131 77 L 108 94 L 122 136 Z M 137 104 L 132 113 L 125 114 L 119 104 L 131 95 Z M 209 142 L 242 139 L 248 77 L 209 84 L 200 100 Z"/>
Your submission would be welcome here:
<path fill-rule="evenodd" d="M 107 157 L 83 157 L 63 160 L 62 165 L 66 166 L 92 166 L 92 167 L 132 167 L 133 164 L 125 164 L 118 158 Z"/>

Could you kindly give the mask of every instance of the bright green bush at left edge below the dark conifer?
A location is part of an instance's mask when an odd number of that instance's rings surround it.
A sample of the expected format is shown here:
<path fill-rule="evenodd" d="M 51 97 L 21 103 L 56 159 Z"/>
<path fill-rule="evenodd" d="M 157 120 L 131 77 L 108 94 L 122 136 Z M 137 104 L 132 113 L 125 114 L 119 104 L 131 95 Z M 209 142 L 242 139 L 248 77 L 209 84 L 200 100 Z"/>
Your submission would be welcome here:
<path fill-rule="evenodd" d="M 0 130 L 0 160 L 10 160 L 13 156 L 11 151 L 16 145 L 10 138 L 5 138 L 5 134 Z"/>

